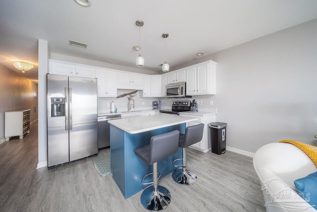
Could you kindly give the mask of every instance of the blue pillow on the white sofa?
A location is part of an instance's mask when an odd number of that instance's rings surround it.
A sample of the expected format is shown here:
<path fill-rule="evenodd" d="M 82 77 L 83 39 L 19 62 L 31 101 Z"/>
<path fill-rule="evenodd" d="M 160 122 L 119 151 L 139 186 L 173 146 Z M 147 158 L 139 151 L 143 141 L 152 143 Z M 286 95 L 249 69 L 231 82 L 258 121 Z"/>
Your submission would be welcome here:
<path fill-rule="evenodd" d="M 317 171 L 294 180 L 298 194 L 317 210 Z"/>

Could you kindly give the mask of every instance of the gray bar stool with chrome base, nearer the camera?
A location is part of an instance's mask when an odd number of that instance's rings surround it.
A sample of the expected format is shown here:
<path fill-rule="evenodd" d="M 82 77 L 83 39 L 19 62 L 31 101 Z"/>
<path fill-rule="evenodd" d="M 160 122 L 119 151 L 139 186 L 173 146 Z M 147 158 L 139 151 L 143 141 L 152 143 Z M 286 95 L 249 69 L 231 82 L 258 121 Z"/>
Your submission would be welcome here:
<path fill-rule="evenodd" d="M 156 135 L 151 138 L 150 145 L 134 149 L 134 153 L 147 164 L 153 164 L 153 182 L 142 184 L 152 184 L 146 188 L 141 195 L 141 204 L 145 209 L 152 212 L 159 212 L 166 209 L 170 203 L 171 195 L 169 191 L 158 185 L 158 161 L 173 155 L 178 149 L 179 131 Z"/>

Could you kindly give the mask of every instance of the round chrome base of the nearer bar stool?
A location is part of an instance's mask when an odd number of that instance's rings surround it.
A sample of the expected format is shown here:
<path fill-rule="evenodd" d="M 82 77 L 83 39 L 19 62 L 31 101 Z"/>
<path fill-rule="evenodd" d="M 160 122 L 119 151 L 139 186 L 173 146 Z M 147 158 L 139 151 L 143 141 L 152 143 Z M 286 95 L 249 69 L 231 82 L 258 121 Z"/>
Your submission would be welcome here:
<path fill-rule="evenodd" d="M 158 185 L 158 191 L 155 193 L 154 186 L 149 186 L 141 195 L 141 204 L 148 211 L 160 212 L 169 206 L 170 199 L 170 193 L 165 187 Z"/>

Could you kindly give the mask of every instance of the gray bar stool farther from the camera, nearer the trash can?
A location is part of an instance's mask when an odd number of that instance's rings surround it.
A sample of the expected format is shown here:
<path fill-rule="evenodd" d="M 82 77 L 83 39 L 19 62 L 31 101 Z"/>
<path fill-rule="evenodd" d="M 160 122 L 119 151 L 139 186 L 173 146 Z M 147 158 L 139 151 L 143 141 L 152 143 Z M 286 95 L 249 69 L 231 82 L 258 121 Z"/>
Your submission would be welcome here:
<path fill-rule="evenodd" d="M 183 163 L 174 166 L 182 165 L 183 168 L 179 168 L 173 171 L 172 177 L 173 180 L 182 185 L 192 185 L 197 181 L 197 176 L 194 172 L 186 169 L 186 147 L 190 145 L 196 144 L 203 139 L 203 132 L 204 132 L 204 125 L 203 123 L 186 127 L 185 134 L 179 135 L 179 142 L 178 147 L 183 149 Z M 173 164 L 181 159 L 175 159 Z"/>

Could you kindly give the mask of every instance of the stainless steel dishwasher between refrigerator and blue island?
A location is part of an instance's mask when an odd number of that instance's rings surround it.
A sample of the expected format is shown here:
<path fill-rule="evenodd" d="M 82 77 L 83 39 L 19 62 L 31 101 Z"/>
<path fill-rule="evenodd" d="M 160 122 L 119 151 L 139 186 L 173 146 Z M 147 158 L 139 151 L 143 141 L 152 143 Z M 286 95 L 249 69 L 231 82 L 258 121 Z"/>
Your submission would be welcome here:
<path fill-rule="evenodd" d="M 110 147 L 110 124 L 108 120 L 120 118 L 120 114 L 98 116 L 98 149 Z"/>

